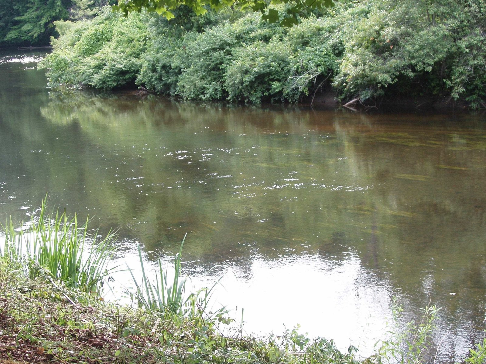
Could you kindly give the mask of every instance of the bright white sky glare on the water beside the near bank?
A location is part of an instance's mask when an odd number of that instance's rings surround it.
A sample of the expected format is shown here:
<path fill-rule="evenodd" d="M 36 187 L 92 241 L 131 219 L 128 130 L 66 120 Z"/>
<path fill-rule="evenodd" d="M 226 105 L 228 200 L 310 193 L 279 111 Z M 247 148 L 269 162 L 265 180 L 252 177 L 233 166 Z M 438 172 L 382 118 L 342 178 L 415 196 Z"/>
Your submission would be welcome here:
<path fill-rule="evenodd" d="M 122 269 L 130 266 L 140 281 L 139 256 L 133 252 L 123 255 L 113 264 Z M 171 258 L 165 257 L 163 261 L 168 281 L 172 282 Z M 183 271 L 191 263 L 183 261 Z M 147 276 L 155 280 L 158 265 L 150 261 L 145 261 L 144 265 Z M 191 276 L 186 294 L 210 288 L 219 281 L 212 291 L 211 306 L 214 309 L 226 306 L 229 316 L 237 323 L 241 321 L 243 310 L 243 330 L 247 333 L 280 335 L 286 329 L 300 326 L 300 333 L 334 339 L 343 351 L 354 345 L 360 348 L 360 355 L 369 355 L 373 345 L 385 337 L 385 323 L 391 317 L 390 293 L 379 282 L 366 281 L 362 269 L 355 257 L 343 262 L 314 257 L 274 262 L 255 259 L 246 272 L 234 266 L 226 267 L 218 275 Z M 106 298 L 128 302 L 121 294 L 133 286 L 130 273 L 120 271 L 112 276 L 115 282 L 110 284 L 115 295 L 108 292 Z M 346 330 L 340 330 L 342 327 Z"/>

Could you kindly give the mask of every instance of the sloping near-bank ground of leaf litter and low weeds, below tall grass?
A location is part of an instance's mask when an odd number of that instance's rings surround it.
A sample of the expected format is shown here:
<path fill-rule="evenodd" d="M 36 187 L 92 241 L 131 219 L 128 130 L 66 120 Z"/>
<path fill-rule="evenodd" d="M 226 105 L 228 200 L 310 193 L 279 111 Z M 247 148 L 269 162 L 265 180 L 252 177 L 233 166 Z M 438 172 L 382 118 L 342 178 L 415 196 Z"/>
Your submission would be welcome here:
<path fill-rule="evenodd" d="M 332 341 L 223 334 L 215 320 L 106 302 L 0 260 L 0 363 L 358 363 Z"/>

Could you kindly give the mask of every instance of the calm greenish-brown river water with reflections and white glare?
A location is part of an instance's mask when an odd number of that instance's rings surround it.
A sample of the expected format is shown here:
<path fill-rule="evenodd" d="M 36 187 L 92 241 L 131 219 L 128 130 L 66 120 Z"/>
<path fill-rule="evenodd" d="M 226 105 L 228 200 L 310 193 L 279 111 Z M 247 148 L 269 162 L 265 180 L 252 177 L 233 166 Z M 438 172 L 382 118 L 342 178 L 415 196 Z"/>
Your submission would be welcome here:
<path fill-rule="evenodd" d="M 486 329 L 486 117 L 172 102 L 47 87 L 41 53 L 0 55 L 0 219 L 46 193 L 121 259 L 221 279 L 247 331 L 371 350 L 392 297 L 441 307 L 438 362 Z"/>

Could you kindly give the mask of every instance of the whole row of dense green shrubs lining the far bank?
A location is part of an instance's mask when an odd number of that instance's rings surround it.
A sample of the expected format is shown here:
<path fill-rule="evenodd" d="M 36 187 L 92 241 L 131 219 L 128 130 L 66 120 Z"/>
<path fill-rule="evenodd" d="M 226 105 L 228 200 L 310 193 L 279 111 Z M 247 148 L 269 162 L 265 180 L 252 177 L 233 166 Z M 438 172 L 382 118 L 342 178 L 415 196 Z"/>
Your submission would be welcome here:
<path fill-rule="evenodd" d="M 342 100 L 486 106 L 486 0 L 335 1 L 290 29 L 229 8 L 195 17 L 181 7 L 175 15 L 104 11 L 58 21 L 61 37 L 42 65 L 51 83 L 112 88 L 136 80 L 191 100 L 296 102 L 332 85 Z"/>

